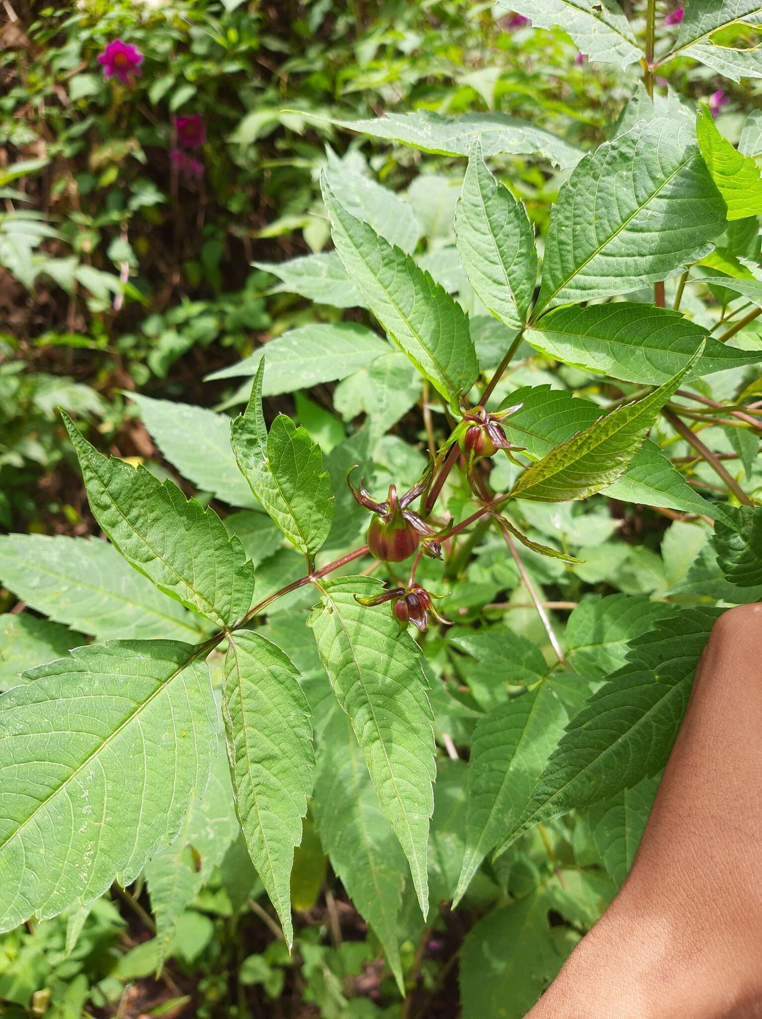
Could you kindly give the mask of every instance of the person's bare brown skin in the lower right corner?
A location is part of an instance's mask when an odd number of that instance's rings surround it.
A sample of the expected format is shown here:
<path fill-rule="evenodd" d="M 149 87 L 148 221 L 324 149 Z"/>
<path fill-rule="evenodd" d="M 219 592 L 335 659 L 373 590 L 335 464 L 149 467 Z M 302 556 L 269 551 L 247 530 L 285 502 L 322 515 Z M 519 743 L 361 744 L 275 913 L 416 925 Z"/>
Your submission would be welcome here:
<path fill-rule="evenodd" d="M 762 1019 L 762 604 L 724 612 L 632 872 L 526 1019 Z"/>

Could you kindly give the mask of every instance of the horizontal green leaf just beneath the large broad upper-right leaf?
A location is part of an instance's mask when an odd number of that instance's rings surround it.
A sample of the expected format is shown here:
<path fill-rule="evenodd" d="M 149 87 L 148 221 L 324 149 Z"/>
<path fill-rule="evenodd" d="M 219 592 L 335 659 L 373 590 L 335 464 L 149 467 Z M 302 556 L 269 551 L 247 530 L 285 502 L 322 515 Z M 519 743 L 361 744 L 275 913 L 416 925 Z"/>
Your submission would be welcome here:
<path fill-rule="evenodd" d="M 524 338 L 576 368 L 649 385 L 660 385 L 679 372 L 703 338 L 706 346 L 691 377 L 762 361 L 759 351 L 720 343 L 679 312 L 624 301 L 555 308 L 530 326 Z"/>

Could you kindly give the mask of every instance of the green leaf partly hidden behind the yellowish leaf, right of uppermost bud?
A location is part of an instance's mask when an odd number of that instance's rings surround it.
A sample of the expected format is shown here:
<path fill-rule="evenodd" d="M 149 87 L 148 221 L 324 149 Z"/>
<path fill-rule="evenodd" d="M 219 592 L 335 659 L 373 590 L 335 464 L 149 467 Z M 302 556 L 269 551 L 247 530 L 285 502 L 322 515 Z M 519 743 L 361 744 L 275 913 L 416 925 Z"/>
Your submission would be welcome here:
<path fill-rule="evenodd" d="M 593 424 L 600 415 L 600 408 L 591 400 L 549 386 L 517 389 L 502 406 L 520 401 L 522 409 L 508 418 L 503 427 L 508 438 L 516 445 L 525 446 L 526 454 L 532 460 L 541 459 L 558 443 Z M 649 439 L 636 453 L 625 475 L 604 492 L 609 498 L 625 502 L 669 506 L 709 517 L 718 512 L 712 502 L 691 488 Z"/>

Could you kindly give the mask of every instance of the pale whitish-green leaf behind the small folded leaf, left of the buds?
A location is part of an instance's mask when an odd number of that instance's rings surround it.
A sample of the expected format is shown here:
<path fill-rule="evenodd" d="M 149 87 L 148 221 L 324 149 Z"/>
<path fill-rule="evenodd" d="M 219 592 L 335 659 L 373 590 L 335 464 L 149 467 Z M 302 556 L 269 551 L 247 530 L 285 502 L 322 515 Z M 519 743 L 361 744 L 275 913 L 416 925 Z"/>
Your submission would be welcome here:
<path fill-rule="evenodd" d="M 183 478 L 230 505 L 261 508 L 235 462 L 227 414 L 137 392 L 130 392 L 129 398 L 137 405 L 151 437 Z"/>

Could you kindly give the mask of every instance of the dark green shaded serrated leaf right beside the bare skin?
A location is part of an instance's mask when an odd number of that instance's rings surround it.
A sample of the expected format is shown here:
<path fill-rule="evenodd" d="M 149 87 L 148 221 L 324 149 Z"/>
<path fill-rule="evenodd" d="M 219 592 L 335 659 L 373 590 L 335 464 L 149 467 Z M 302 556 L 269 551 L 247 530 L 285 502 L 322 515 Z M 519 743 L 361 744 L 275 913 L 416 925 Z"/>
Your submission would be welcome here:
<path fill-rule="evenodd" d="M 632 642 L 628 663 L 567 726 L 495 856 L 535 824 L 608 799 L 661 770 L 719 614 L 704 606 L 685 608 Z"/>

